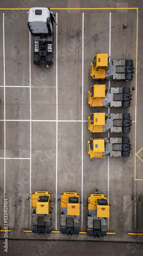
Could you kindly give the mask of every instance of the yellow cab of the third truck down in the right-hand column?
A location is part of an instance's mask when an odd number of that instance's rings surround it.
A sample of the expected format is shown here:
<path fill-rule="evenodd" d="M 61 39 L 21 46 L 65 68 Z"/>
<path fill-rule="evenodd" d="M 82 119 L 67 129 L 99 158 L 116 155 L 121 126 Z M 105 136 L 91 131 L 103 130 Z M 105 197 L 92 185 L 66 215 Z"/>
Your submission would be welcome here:
<path fill-rule="evenodd" d="M 106 113 L 92 113 L 88 116 L 88 130 L 90 133 L 104 133 Z"/>

